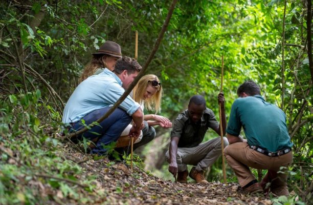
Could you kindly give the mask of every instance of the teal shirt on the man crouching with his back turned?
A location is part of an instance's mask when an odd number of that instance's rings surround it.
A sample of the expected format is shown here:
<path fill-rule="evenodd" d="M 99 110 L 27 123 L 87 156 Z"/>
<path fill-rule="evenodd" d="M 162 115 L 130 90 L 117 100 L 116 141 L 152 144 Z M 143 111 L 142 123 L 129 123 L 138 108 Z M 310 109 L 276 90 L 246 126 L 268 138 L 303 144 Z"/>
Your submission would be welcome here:
<path fill-rule="evenodd" d="M 251 146 L 270 152 L 293 146 L 285 113 L 260 95 L 240 97 L 234 101 L 226 132 L 239 136 L 241 127 Z"/>

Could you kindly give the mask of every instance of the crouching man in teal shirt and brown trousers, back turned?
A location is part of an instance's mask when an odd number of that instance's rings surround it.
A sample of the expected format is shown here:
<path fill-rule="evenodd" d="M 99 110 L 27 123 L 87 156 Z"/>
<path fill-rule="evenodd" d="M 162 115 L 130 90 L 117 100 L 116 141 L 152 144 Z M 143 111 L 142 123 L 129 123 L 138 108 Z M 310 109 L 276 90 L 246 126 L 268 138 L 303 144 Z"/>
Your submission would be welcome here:
<path fill-rule="evenodd" d="M 267 103 L 252 80 L 240 85 L 237 94 L 239 98 L 232 105 L 226 130 L 230 145 L 224 153 L 228 164 L 244 193 L 263 192 L 263 189 L 270 188 L 278 196 L 288 195 L 286 168 L 293 160 L 293 144 L 285 113 Z M 247 139 L 239 136 L 241 128 Z M 249 167 L 268 170 L 261 183 L 257 182 Z"/>

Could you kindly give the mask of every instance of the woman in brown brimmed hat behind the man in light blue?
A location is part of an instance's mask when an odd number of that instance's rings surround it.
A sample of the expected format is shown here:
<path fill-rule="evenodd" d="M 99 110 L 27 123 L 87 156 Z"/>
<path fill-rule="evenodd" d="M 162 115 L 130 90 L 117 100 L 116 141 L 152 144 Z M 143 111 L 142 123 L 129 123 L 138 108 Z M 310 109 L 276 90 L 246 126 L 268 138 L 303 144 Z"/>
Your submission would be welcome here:
<path fill-rule="evenodd" d="M 107 40 L 96 53 L 93 53 L 93 58 L 80 76 L 81 83 L 91 75 L 97 75 L 107 68 L 110 71 L 114 70 L 116 61 L 122 57 L 121 47 L 115 42 Z"/>

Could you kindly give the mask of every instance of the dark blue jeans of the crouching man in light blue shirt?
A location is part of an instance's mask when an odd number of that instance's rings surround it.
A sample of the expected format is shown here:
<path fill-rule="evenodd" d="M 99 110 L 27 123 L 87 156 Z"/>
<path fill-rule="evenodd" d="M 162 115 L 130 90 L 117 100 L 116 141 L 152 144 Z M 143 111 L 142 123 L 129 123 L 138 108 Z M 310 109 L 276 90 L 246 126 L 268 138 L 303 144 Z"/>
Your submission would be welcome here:
<path fill-rule="evenodd" d="M 86 125 L 92 124 L 100 117 L 102 117 L 111 107 L 101 108 L 85 115 L 82 119 L 85 120 Z M 97 137 L 98 141 L 96 147 L 91 153 L 104 155 L 106 150 L 103 145 L 109 145 L 113 141 L 117 141 L 123 130 L 129 125 L 132 117 L 129 116 L 124 110 L 117 108 L 106 119 L 100 122 L 100 125 L 95 125 L 92 129 L 80 134 L 78 137 L 85 137 L 86 139 L 93 140 Z M 74 124 L 74 130 L 81 130 L 84 126 L 81 120 Z M 98 134 L 96 134 L 98 133 Z"/>

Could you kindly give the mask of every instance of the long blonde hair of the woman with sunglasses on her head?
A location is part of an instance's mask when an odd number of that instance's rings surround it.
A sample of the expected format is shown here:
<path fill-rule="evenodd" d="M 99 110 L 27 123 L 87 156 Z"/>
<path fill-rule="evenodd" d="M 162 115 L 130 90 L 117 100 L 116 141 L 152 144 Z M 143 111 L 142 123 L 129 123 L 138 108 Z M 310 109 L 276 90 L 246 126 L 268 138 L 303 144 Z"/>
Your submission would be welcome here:
<path fill-rule="evenodd" d="M 140 78 L 135 88 L 133 88 L 133 99 L 139 104 L 144 103 L 147 110 L 155 110 L 155 113 L 158 113 L 161 112 L 163 89 L 161 85 L 152 86 L 151 81 L 153 80 L 157 80 L 160 83 L 160 80 L 156 75 L 149 74 Z M 151 85 L 153 88 L 157 88 L 157 92 L 150 98 L 144 100 L 143 96 L 148 85 Z"/>

